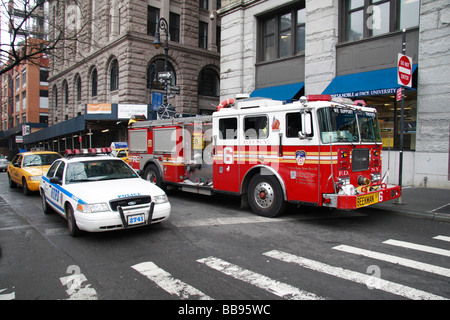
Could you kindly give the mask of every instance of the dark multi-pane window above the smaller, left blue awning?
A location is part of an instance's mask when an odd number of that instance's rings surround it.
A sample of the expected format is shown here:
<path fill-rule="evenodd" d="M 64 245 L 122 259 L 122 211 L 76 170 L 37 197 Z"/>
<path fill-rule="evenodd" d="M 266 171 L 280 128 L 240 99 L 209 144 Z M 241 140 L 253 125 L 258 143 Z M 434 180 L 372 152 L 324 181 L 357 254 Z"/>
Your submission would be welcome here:
<path fill-rule="evenodd" d="M 259 19 L 259 61 L 291 57 L 305 51 L 305 3 L 277 10 Z"/>

